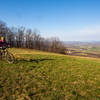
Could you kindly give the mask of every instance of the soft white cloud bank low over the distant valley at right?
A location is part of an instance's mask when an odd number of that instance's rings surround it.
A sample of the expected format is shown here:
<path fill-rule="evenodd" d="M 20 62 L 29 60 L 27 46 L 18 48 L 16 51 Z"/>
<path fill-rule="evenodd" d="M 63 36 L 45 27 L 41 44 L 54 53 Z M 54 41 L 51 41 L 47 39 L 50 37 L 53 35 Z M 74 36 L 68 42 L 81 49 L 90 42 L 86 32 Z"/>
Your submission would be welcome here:
<path fill-rule="evenodd" d="M 100 25 L 88 26 L 64 32 L 61 39 L 68 41 L 100 41 Z"/>

